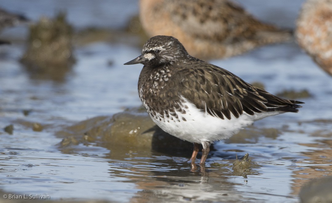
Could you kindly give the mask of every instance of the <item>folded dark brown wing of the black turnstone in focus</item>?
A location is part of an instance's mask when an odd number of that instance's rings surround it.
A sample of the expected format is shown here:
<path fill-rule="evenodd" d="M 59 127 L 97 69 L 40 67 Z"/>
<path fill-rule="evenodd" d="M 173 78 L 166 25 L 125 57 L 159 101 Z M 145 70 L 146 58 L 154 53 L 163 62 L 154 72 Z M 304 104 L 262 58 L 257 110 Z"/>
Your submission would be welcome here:
<path fill-rule="evenodd" d="M 197 67 L 195 67 L 197 65 Z M 238 118 L 269 111 L 297 112 L 302 102 L 282 99 L 246 83 L 241 78 L 203 61 L 194 61 L 192 68 L 180 70 L 177 78 L 180 94 L 197 108 L 219 118 Z"/>

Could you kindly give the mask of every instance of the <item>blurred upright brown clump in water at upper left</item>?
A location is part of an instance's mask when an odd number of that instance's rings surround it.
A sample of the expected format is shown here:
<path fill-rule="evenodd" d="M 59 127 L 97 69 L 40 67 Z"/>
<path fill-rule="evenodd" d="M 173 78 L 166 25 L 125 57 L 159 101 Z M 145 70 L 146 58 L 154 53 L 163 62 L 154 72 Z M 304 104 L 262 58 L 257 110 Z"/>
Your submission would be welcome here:
<path fill-rule="evenodd" d="M 55 19 L 42 17 L 30 27 L 28 48 L 21 62 L 37 78 L 62 80 L 74 64 L 72 27 L 65 14 Z"/>

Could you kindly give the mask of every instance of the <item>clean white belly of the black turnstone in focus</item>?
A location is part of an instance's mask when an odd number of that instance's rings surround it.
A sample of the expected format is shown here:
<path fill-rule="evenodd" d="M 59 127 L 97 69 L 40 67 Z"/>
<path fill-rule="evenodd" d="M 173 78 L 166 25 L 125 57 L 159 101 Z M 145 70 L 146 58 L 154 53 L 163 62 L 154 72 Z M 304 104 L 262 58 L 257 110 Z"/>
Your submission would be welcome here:
<path fill-rule="evenodd" d="M 159 116 L 158 119 L 151 118 L 163 131 L 192 143 L 227 139 L 256 120 L 283 113 L 266 112 L 253 116 L 243 113 L 239 118 L 232 116 L 228 120 L 226 118 L 213 117 L 204 111 L 200 111 L 190 102 L 187 102 L 185 105 L 188 106 L 185 114 L 176 112 L 178 119 L 171 115 L 169 115 L 169 118 L 166 115 L 163 118 Z"/>

